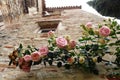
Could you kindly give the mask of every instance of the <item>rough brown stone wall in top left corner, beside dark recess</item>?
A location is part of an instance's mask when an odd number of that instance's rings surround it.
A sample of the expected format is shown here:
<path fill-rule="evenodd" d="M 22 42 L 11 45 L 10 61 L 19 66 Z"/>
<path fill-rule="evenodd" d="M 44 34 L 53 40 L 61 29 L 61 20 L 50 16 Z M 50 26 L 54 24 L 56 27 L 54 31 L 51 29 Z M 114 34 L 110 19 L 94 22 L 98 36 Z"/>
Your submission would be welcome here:
<path fill-rule="evenodd" d="M 1 12 L 5 23 L 12 23 L 20 19 L 22 0 L 1 0 Z"/>

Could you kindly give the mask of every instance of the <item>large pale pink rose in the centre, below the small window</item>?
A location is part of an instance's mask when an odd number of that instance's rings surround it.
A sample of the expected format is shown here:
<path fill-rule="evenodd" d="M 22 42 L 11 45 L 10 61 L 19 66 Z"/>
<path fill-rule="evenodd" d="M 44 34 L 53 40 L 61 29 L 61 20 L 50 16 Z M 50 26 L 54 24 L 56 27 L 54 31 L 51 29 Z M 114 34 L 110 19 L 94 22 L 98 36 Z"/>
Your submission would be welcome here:
<path fill-rule="evenodd" d="M 59 48 L 63 48 L 65 46 L 67 46 L 68 42 L 65 38 L 58 37 L 58 38 L 56 38 L 56 44 Z"/>

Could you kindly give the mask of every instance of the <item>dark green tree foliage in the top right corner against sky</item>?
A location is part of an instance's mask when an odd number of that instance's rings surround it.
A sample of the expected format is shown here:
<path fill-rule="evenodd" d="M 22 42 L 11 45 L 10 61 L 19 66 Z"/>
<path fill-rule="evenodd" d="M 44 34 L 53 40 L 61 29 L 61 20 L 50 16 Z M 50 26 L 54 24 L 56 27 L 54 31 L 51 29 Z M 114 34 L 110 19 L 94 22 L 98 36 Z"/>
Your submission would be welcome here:
<path fill-rule="evenodd" d="M 120 19 L 120 0 L 91 0 L 88 4 L 103 16 Z"/>

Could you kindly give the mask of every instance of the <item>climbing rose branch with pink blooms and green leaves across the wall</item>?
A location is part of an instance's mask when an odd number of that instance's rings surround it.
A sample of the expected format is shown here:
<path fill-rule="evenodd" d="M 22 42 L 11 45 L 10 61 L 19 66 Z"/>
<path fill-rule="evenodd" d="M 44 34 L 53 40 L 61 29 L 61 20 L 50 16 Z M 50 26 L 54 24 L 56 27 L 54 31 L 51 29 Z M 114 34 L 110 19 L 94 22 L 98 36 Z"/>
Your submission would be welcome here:
<path fill-rule="evenodd" d="M 40 63 L 65 67 L 66 69 L 78 68 L 94 74 L 99 74 L 96 63 L 105 62 L 107 65 L 115 64 L 116 67 L 110 75 L 119 75 L 120 72 L 120 25 L 115 20 L 104 20 L 97 26 L 92 22 L 81 25 L 83 32 L 78 41 L 70 36 L 57 37 L 53 31 L 48 32 L 48 46 L 38 48 L 28 45 L 24 50 L 23 45 L 9 55 L 10 63 L 19 66 L 23 71 L 30 71 L 32 65 Z M 112 40 L 112 41 L 111 41 Z M 115 51 L 111 52 L 110 48 Z M 115 55 L 114 62 L 104 60 L 105 54 Z"/>

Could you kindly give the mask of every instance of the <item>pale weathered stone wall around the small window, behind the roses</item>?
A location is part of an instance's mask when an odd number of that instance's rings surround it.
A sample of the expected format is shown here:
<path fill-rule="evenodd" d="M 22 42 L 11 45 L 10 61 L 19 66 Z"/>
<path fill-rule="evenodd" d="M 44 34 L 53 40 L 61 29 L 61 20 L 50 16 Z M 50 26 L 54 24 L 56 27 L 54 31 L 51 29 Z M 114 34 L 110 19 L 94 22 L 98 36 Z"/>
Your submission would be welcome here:
<path fill-rule="evenodd" d="M 21 23 L 7 25 L 5 29 L 0 31 L 0 57 L 1 64 L 9 63 L 7 55 L 11 53 L 14 48 L 18 47 L 20 43 L 24 46 L 34 45 L 40 47 L 47 45 L 47 38 L 40 37 L 41 33 L 35 33 L 34 31 L 39 28 L 36 24 L 37 21 L 42 20 L 61 20 L 61 25 L 56 31 L 57 36 L 71 35 L 72 39 L 77 40 L 81 36 L 80 24 L 85 24 L 88 21 L 92 21 L 94 24 L 101 23 L 103 18 L 87 13 L 80 9 L 65 10 L 61 16 L 52 16 L 42 18 L 40 15 L 24 17 Z M 62 33 L 61 33 L 62 32 Z M 1 38 L 4 36 L 4 38 Z M 6 48 L 5 46 L 14 46 L 14 48 Z M 3 68 L 3 67 L 2 67 Z M 15 67 L 14 67 L 15 68 Z M 44 67 L 43 65 L 32 66 L 30 73 L 21 71 L 18 67 L 16 69 L 4 67 L 4 70 L 0 72 L 1 80 L 104 80 L 99 76 L 83 73 L 79 70 L 66 71 L 63 68 Z"/>

